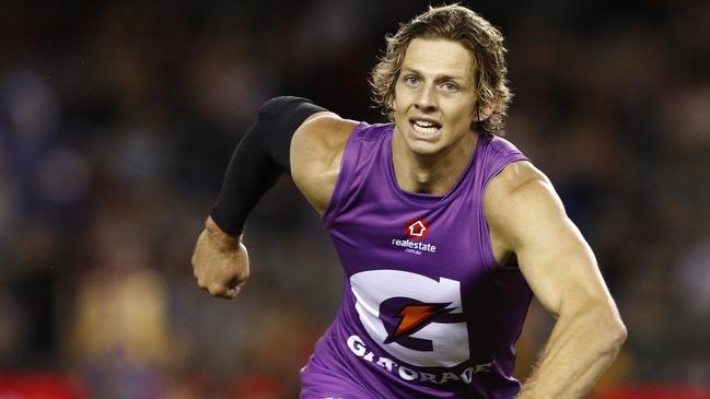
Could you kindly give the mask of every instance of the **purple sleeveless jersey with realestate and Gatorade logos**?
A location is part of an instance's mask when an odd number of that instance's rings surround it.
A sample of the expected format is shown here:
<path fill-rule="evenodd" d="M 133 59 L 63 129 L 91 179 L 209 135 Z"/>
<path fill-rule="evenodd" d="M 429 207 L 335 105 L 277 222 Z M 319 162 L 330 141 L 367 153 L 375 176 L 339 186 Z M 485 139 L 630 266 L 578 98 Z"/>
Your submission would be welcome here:
<path fill-rule="evenodd" d="M 481 137 L 447 195 L 405 192 L 393 128 L 360 124 L 342 156 L 323 218 L 346 271 L 342 302 L 301 371 L 301 398 L 512 398 L 532 294 L 517 269 L 496 266 L 482 197 L 525 156 Z"/>

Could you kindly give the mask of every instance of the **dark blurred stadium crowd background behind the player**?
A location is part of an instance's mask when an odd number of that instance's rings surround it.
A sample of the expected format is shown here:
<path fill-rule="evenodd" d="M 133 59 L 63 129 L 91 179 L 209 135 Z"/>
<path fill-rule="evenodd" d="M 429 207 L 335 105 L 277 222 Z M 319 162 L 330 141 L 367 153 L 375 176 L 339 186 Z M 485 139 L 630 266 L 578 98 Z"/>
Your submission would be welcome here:
<path fill-rule="evenodd" d="M 427 4 L 3 0 L 0 398 L 294 398 L 340 294 L 315 212 L 288 179 L 265 198 L 234 302 L 196 286 L 195 238 L 267 98 L 383 120 L 369 70 Z M 595 397 L 709 398 L 710 3 L 468 5 L 630 332 Z M 521 378 L 550 326 L 534 304 Z"/>

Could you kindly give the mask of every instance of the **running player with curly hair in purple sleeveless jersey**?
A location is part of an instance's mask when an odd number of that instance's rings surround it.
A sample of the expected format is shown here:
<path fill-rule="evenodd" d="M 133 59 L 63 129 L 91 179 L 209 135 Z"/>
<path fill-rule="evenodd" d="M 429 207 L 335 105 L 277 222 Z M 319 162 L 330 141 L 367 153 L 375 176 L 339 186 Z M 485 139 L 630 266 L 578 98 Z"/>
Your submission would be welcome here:
<path fill-rule="evenodd" d="M 619 351 L 626 330 L 591 249 L 545 175 L 496 136 L 504 51 L 470 10 L 431 8 L 387 38 L 372 73 L 394 124 L 280 97 L 235 151 L 193 258 L 198 284 L 242 289 L 244 219 L 279 165 L 346 270 L 301 398 L 579 398 Z M 532 294 L 557 322 L 521 390 L 514 344 Z"/>

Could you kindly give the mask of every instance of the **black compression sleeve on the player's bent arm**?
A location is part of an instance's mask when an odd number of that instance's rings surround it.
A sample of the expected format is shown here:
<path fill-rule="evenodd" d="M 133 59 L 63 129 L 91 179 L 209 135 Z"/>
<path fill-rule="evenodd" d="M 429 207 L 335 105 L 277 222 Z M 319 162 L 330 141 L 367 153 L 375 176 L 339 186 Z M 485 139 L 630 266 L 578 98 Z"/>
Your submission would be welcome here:
<path fill-rule="evenodd" d="M 275 97 L 264 103 L 230 160 L 220 197 L 210 216 L 230 235 L 244 223 L 261 196 L 281 174 L 291 173 L 290 148 L 295 130 L 311 115 L 327 109 L 300 97 Z"/>

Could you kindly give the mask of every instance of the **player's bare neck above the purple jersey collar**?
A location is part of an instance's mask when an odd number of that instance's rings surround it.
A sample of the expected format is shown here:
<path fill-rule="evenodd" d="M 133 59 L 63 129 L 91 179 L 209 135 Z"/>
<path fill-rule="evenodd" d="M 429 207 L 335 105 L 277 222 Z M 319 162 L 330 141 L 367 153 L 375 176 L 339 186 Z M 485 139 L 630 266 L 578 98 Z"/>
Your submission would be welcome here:
<path fill-rule="evenodd" d="M 478 143 L 472 132 L 452 145 L 433 154 L 409 150 L 395 129 L 392 140 L 392 162 L 397 185 L 405 191 L 442 196 L 451 190 L 466 169 Z"/>

